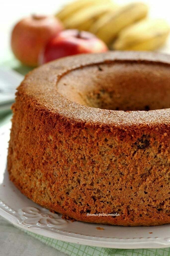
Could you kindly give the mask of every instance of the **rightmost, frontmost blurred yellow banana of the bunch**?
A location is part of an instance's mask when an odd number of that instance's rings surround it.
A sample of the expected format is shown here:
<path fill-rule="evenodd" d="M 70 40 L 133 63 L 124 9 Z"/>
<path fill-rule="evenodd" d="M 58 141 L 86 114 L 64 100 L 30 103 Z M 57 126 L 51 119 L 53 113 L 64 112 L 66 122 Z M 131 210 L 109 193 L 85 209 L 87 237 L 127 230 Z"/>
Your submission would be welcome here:
<path fill-rule="evenodd" d="M 169 34 L 169 24 L 162 19 L 142 20 L 123 29 L 113 44 L 116 50 L 155 50 Z"/>

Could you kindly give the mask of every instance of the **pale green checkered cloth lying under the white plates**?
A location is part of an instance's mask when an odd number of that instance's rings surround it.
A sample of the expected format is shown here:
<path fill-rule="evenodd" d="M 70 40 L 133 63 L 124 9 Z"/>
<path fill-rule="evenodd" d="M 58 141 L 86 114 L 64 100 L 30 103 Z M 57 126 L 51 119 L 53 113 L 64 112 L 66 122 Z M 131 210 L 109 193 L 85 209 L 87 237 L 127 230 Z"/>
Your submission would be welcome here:
<path fill-rule="evenodd" d="M 21 74 L 25 75 L 31 69 L 21 65 L 16 59 L 10 58 L 8 61 L 3 62 L 3 66 L 12 68 Z M 0 114 L 0 125 L 9 122 L 11 118 L 10 111 Z M 25 230 L 24 230 L 25 231 Z M 25 231 L 32 237 L 42 241 L 43 243 L 51 246 L 60 252 L 66 253 L 71 256 L 169 256 L 170 248 L 163 249 L 112 249 L 102 247 L 85 246 L 81 244 L 74 244 L 63 242 L 60 240 L 52 239 L 49 237 L 40 236 L 29 231 Z"/>

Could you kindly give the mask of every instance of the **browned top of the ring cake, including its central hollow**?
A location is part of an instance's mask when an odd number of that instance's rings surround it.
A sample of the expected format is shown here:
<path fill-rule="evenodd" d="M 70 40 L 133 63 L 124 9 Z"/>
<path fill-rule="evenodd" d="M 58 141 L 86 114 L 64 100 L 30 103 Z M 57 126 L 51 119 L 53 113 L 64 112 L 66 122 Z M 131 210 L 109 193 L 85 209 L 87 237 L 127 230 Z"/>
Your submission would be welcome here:
<path fill-rule="evenodd" d="M 73 123 L 169 124 L 169 67 L 169 55 L 151 52 L 76 55 L 34 69 L 18 93 Z"/>

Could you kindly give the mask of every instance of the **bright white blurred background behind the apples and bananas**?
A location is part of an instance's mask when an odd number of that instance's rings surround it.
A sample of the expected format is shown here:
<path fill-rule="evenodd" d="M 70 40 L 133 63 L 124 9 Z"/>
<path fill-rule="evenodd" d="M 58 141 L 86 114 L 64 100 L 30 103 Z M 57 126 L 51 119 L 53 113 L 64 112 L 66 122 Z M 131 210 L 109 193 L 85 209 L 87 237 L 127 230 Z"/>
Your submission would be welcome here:
<path fill-rule="evenodd" d="M 68 0 L 5 0 L 1 2 L 0 9 L 0 61 L 12 58 L 10 51 L 10 35 L 11 30 L 20 19 L 31 14 L 56 14 L 64 5 L 72 1 Z M 105 0 L 102 1 L 106 3 Z M 135 0 L 113 0 L 113 3 L 118 5 L 125 5 L 132 2 L 139 2 Z M 170 24 L 170 1 L 162 0 L 143 0 L 140 1 L 148 5 L 148 16 L 151 18 L 163 18 Z M 160 49 L 162 52 L 170 53 L 170 40 Z"/>

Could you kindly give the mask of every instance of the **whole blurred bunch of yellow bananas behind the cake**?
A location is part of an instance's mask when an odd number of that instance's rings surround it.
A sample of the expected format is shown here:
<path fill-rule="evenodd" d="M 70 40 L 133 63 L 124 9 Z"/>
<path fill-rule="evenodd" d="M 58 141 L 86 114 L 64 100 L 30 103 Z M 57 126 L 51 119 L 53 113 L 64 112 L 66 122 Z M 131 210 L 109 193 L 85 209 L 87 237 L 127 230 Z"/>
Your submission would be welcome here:
<path fill-rule="evenodd" d="M 166 41 L 169 25 L 147 14 L 147 5 L 140 2 L 118 6 L 111 0 L 77 0 L 56 16 L 66 28 L 90 31 L 112 49 L 154 50 Z"/>

